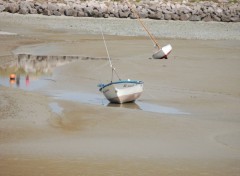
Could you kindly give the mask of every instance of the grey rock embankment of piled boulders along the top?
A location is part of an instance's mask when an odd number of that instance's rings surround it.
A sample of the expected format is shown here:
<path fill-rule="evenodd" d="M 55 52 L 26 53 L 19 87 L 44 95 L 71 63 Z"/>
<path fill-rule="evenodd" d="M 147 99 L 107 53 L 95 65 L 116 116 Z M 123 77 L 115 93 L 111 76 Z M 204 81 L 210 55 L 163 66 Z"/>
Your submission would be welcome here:
<path fill-rule="evenodd" d="M 220 0 L 219 0 L 220 1 Z M 240 22 L 240 2 L 172 2 L 163 0 L 80 1 L 0 0 L 0 12 L 75 17 L 115 17 L 181 21 Z"/>

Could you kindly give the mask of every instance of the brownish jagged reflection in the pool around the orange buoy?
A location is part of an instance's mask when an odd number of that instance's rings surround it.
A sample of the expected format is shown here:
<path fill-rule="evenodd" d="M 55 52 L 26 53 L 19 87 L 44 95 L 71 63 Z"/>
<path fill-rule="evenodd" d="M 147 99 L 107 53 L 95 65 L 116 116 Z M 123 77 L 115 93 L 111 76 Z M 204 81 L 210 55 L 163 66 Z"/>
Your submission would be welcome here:
<path fill-rule="evenodd" d="M 39 80 L 40 78 L 48 80 L 55 67 L 66 65 L 77 60 L 103 59 L 106 60 L 107 58 L 31 54 L 9 56 L 9 61 L 0 65 L 0 85 L 25 89 L 30 86 L 30 80 L 31 82 Z M 25 82 L 25 85 L 23 82 Z"/>

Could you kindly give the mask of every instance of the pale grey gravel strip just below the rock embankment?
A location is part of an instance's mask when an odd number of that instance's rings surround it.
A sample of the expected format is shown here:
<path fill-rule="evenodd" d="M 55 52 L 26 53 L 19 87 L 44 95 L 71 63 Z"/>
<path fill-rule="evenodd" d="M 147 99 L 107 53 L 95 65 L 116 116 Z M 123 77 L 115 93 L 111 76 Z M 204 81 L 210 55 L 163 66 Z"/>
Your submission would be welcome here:
<path fill-rule="evenodd" d="M 15 20 L 17 18 L 17 20 Z M 48 20 L 48 23 L 45 23 Z M 198 40 L 240 40 L 240 23 L 217 22 L 186 22 L 186 21 L 156 21 L 143 20 L 150 32 L 156 38 L 198 39 Z M 115 18 L 75 18 L 65 16 L 20 15 L 0 13 L 0 30 L 5 30 L 9 24 L 18 26 L 30 25 L 35 30 L 47 28 L 52 31 L 76 34 L 100 34 L 100 26 L 107 35 L 147 36 L 137 20 Z M 157 30 L 156 30 L 157 29 Z M 11 31 L 16 33 L 14 29 Z M 217 32 L 216 32 L 217 31 Z M 24 31 L 21 31 L 24 35 Z"/>

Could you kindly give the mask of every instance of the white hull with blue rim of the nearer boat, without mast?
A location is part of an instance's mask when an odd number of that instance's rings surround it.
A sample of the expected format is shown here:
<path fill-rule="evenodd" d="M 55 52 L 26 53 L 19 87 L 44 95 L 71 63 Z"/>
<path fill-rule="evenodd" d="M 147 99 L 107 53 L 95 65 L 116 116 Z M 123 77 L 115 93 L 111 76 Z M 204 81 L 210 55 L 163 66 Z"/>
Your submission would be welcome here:
<path fill-rule="evenodd" d="M 100 89 L 111 103 L 133 102 L 143 92 L 142 81 L 124 80 L 101 85 Z"/>

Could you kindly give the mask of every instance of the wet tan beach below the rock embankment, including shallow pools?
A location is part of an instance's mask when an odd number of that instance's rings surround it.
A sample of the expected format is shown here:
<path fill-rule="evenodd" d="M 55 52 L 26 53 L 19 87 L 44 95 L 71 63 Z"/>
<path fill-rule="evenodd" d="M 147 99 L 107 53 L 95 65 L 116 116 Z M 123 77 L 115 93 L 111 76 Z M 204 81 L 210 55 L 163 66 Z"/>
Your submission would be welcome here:
<path fill-rule="evenodd" d="M 240 23 L 145 22 L 168 59 L 149 59 L 135 20 L 0 14 L 1 176 L 240 175 Z M 98 91 L 100 25 L 119 75 L 144 81 L 133 104 Z M 18 54 L 95 59 L 46 63 L 17 88 Z"/>

